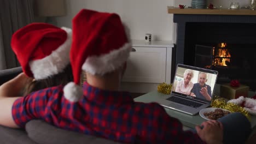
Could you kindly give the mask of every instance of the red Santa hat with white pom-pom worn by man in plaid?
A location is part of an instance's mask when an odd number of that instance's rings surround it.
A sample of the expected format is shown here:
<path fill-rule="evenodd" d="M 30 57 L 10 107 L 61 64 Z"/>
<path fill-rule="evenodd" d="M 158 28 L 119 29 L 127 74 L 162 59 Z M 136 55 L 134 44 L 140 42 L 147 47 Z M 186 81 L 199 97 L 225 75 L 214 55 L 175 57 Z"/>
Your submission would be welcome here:
<path fill-rule="evenodd" d="M 120 68 L 130 55 L 129 32 L 119 15 L 82 9 L 73 18 L 70 53 L 74 82 L 63 89 L 66 99 L 83 96 L 79 86 L 82 69 L 92 75 L 104 75 Z"/>

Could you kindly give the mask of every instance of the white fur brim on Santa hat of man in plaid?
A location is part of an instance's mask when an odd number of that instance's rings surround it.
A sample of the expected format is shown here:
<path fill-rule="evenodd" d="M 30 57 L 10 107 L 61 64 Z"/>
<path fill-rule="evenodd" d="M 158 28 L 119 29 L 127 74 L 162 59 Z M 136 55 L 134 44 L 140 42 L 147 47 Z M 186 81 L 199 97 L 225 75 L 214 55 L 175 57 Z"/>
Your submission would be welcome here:
<path fill-rule="evenodd" d="M 91 56 L 86 58 L 82 69 L 95 75 L 104 75 L 121 67 L 130 56 L 131 44 L 126 43 L 120 49 L 110 51 L 101 56 Z"/>

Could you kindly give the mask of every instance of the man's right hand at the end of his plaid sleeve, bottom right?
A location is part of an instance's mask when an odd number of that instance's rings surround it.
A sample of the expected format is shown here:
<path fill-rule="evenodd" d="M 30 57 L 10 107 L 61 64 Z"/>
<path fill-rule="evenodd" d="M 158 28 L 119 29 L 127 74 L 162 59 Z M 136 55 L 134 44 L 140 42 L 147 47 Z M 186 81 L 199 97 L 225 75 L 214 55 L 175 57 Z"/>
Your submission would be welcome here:
<path fill-rule="evenodd" d="M 203 128 L 201 128 L 203 127 Z M 223 125 L 222 123 L 211 120 L 203 122 L 200 126 L 196 126 L 197 134 L 207 144 L 223 143 Z"/>

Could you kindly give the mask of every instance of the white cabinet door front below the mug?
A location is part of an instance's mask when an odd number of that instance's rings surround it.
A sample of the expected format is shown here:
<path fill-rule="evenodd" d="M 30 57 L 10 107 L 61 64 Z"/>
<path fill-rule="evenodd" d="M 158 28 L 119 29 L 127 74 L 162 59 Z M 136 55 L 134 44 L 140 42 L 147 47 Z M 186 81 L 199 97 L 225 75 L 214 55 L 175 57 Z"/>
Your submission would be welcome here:
<path fill-rule="evenodd" d="M 127 61 L 125 82 L 165 81 L 166 47 L 135 47 Z"/>

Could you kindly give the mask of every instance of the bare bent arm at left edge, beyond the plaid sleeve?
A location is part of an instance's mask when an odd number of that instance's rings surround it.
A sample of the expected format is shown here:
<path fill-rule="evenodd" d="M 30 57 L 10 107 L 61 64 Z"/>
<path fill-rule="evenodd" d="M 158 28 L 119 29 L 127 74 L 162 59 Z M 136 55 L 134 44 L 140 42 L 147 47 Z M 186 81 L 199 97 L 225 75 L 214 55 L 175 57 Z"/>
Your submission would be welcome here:
<path fill-rule="evenodd" d="M 11 109 L 14 101 L 19 98 L 20 91 L 30 80 L 31 79 L 28 78 L 24 73 L 21 73 L 14 77 L 14 79 L 11 79 L 0 86 L 1 125 L 11 128 L 19 128 L 13 120 Z"/>

